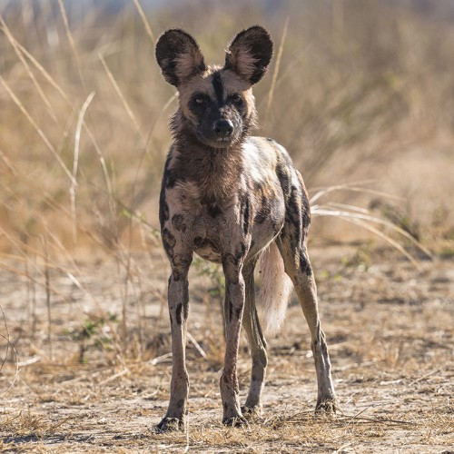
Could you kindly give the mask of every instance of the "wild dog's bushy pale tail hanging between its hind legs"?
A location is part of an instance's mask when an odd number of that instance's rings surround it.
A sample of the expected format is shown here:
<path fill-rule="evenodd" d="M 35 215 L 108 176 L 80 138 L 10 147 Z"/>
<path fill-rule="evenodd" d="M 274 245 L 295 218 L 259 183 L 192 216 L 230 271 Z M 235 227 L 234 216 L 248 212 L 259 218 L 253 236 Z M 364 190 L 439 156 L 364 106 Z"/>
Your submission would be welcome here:
<path fill-rule="evenodd" d="M 276 242 L 262 252 L 259 262 L 261 286 L 257 297 L 262 309 L 265 333 L 276 334 L 285 319 L 293 284 L 284 271 L 284 263 Z"/>

